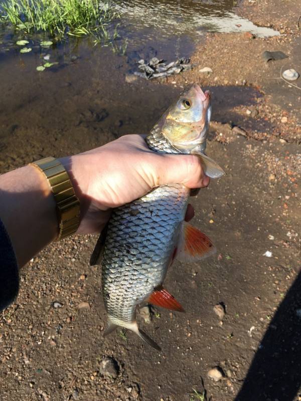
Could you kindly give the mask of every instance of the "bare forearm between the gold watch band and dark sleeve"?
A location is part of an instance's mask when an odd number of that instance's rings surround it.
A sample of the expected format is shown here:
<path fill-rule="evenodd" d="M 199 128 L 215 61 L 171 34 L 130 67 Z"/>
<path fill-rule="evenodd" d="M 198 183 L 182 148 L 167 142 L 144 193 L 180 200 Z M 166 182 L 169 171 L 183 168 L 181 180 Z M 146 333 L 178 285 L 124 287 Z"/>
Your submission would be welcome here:
<path fill-rule="evenodd" d="M 28 165 L 0 175 L 0 218 L 24 266 L 58 235 L 56 204 L 43 173 Z"/>

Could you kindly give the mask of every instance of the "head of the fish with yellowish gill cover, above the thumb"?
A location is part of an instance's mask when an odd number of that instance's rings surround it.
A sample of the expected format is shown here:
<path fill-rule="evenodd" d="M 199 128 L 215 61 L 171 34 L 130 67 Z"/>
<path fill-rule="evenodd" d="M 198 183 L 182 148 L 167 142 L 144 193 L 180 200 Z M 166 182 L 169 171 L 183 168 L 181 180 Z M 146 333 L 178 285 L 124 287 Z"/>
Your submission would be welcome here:
<path fill-rule="evenodd" d="M 210 91 L 198 84 L 183 92 L 162 117 L 162 133 L 181 153 L 203 153 L 211 117 Z"/>

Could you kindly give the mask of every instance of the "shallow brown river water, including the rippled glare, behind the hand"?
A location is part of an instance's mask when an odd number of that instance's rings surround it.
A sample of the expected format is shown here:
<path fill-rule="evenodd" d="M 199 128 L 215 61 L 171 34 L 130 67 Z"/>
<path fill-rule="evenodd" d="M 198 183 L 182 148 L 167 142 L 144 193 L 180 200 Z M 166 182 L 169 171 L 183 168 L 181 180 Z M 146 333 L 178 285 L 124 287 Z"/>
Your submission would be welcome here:
<path fill-rule="evenodd" d="M 126 77 L 141 58 L 189 57 L 208 31 L 277 34 L 235 16 L 230 0 L 121 0 L 112 5 L 121 16 L 117 44 L 128 40 L 125 55 L 85 38 L 45 49 L 39 36 L 0 33 L 0 167 L 147 132 L 181 88 L 164 80 L 129 83 Z M 30 53 L 20 53 L 20 39 L 29 40 Z M 45 62 L 57 64 L 38 72 Z"/>

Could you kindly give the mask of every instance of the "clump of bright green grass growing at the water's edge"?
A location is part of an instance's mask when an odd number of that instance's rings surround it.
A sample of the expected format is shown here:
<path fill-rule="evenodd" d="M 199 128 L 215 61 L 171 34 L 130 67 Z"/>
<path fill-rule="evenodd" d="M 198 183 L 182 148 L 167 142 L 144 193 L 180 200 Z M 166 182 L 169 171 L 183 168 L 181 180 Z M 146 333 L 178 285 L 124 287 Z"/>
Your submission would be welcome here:
<path fill-rule="evenodd" d="M 119 15 L 98 0 L 4 0 L 0 21 L 25 34 L 46 32 L 61 40 L 65 35 L 95 35 L 98 42 L 111 42 L 118 36 L 109 23 Z"/>

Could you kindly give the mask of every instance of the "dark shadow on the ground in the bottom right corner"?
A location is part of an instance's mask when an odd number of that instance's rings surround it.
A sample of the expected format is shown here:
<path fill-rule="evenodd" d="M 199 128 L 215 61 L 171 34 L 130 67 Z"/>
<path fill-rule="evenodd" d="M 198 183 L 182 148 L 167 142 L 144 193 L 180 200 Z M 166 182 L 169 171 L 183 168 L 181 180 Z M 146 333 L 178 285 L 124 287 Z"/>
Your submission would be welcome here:
<path fill-rule="evenodd" d="M 274 315 L 235 401 L 292 401 L 301 385 L 301 274 Z"/>

